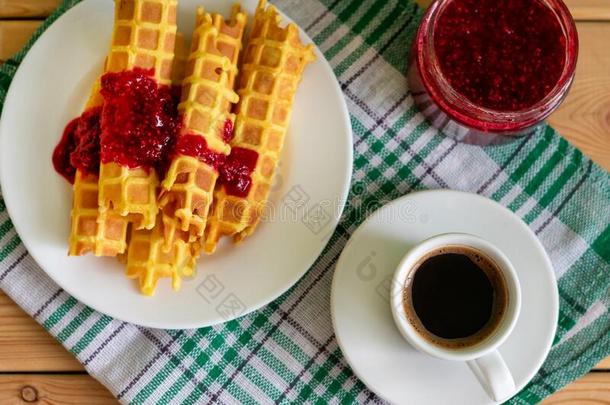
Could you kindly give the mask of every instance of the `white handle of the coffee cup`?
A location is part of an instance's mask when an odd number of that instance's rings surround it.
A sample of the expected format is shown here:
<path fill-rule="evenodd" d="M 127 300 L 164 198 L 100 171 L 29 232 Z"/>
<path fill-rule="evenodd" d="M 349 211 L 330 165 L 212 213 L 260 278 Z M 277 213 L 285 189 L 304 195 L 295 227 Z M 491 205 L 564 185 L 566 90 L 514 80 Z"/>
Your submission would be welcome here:
<path fill-rule="evenodd" d="M 497 350 L 466 363 L 494 401 L 508 399 L 515 392 L 515 380 Z"/>

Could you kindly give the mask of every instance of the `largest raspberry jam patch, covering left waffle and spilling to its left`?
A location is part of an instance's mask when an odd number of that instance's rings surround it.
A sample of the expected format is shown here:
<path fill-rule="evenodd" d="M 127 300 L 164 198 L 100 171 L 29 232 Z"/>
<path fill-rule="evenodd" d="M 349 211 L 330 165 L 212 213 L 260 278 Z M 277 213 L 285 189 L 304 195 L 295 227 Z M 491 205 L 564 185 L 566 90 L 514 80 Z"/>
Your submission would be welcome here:
<path fill-rule="evenodd" d="M 152 70 L 102 76 L 103 107 L 70 121 L 53 151 L 53 167 L 69 182 L 76 170 L 97 174 L 100 161 L 162 173 L 181 119 L 178 91 L 158 86 Z"/>

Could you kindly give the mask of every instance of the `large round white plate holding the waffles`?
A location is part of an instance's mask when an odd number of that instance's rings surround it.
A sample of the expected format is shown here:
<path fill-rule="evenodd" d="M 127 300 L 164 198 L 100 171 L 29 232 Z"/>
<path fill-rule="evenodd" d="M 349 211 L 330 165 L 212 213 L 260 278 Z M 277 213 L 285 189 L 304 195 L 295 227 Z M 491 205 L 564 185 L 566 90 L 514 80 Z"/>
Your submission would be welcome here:
<path fill-rule="evenodd" d="M 256 1 L 242 3 L 251 20 Z M 181 0 L 179 30 L 190 38 L 197 5 L 228 16 L 231 4 Z M 271 218 L 240 246 L 224 244 L 213 256 L 202 257 L 198 274 L 185 280 L 180 292 L 161 280 L 156 295 L 148 298 L 125 278 L 116 259 L 67 256 L 72 191 L 51 165 L 64 126 L 81 113 L 101 72 L 112 22 L 112 1 L 82 2 L 49 27 L 15 75 L 0 121 L 0 180 L 17 232 L 57 284 L 121 320 L 194 328 L 260 308 L 305 274 L 326 245 L 347 198 L 352 134 L 328 62 L 316 49 L 317 60 L 306 68 L 299 87 L 270 198 Z"/>

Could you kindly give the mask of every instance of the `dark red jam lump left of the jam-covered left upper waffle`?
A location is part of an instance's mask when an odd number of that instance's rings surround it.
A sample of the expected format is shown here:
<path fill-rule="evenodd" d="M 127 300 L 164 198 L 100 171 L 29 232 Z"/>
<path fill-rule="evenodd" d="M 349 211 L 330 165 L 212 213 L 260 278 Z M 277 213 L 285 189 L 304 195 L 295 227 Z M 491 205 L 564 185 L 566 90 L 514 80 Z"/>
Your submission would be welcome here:
<path fill-rule="evenodd" d="M 100 166 L 100 115 L 94 107 L 70 121 L 53 151 L 53 167 L 70 183 L 76 170 L 97 174 Z"/>

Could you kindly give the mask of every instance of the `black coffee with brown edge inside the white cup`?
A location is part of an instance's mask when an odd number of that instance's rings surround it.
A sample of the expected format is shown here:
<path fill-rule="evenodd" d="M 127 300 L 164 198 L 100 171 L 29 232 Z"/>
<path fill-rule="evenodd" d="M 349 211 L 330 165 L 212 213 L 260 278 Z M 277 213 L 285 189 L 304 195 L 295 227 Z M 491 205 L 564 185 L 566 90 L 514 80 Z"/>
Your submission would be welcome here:
<path fill-rule="evenodd" d="M 488 337 L 507 301 L 498 266 L 466 246 L 428 253 L 414 266 L 404 293 L 410 322 L 426 339 L 449 347 L 471 346 Z"/>

